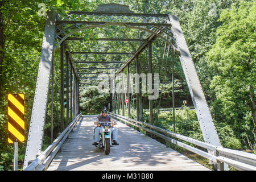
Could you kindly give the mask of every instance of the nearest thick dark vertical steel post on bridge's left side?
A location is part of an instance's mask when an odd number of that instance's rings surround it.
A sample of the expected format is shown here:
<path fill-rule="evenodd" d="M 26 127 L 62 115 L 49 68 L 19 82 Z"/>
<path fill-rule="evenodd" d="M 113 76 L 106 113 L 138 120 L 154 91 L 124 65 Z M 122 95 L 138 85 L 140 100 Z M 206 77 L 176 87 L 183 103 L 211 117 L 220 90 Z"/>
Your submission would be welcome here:
<path fill-rule="evenodd" d="M 64 130 L 64 44 L 60 44 L 60 126 Z"/>

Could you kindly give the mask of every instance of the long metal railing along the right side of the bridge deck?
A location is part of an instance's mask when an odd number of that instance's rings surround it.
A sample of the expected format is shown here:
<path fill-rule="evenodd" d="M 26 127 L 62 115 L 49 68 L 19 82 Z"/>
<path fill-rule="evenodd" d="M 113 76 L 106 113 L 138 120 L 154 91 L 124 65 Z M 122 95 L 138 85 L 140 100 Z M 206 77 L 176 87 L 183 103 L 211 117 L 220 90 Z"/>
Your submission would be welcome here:
<path fill-rule="evenodd" d="M 229 148 L 224 148 L 221 146 L 214 146 L 209 143 L 201 142 L 200 140 L 196 140 L 177 133 L 173 133 L 169 130 L 161 129 L 160 127 L 156 127 L 148 123 L 124 117 L 123 115 L 113 113 L 109 114 L 112 115 L 113 118 L 119 119 L 119 121 L 133 125 L 133 127 L 136 126 L 137 128 L 140 128 L 148 133 L 156 135 L 166 140 L 167 143 L 174 143 L 177 146 L 185 148 L 186 150 L 189 150 L 191 152 L 194 152 L 195 154 L 198 154 L 200 156 L 203 156 L 204 158 L 209 159 L 215 164 L 217 163 L 218 170 L 224 170 L 224 163 L 227 163 L 238 170 L 256 171 L 256 155 L 254 154 L 249 154 L 243 151 L 231 150 Z M 160 133 L 153 131 L 152 129 L 159 131 Z M 185 142 L 195 144 L 196 146 L 207 149 L 209 152 L 189 146 L 188 144 L 185 144 L 173 138 L 177 138 Z"/>

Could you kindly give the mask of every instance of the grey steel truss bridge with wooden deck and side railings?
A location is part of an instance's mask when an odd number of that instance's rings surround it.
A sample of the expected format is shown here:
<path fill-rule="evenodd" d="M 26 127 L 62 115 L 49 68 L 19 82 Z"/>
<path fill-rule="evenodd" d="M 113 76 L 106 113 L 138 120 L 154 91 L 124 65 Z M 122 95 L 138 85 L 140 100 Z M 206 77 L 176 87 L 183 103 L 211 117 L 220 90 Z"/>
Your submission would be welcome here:
<path fill-rule="evenodd" d="M 107 34 L 102 30 L 109 31 L 108 28 L 114 28 L 112 35 L 118 35 L 118 37 L 105 37 Z M 124 31 L 117 34 L 121 28 L 127 31 L 137 31 L 139 36 L 129 38 Z M 89 30 L 94 33 L 88 33 Z M 96 34 L 100 36 L 92 36 Z M 135 94 L 137 118 L 131 118 L 132 94 L 129 90 L 132 88 L 130 88 L 130 80 L 127 76 L 126 80 L 121 78 L 121 89 L 125 91 L 124 93 L 120 92 L 122 90 L 116 90 L 115 86 L 109 89 L 109 114 L 118 121 L 120 145 L 113 147 L 110 155 L 105 156 L 92 146 L 94 128 L 92 121 L 96 119 L 96 115 L 81 115 L 80 113 L 81 88 L 86 85 L 97 85 L 99 83 L 97 81 L 101 79 L 98 78 L 100 73 L 105 74 L 102 78 L 108 79 L 109 86 L 115 84 L 120 73 L 130 73 L 132 63 L 135 63 L 135 73 L 141 74 L 139 56 L 143 52 L 146 52 L 148 59 L 147 73 L 153 73 L 152 43 L 156 39 L 165 43 L 164 56 L 168 57 L 169 54 L 171 56 L 172 85 L 174 84 L 174 57 L 179 57 L 204 142 L 154 126 L 152 100 L 149 100 L 150 123 L 142 122 L 141 92 Z M 96 49 L 88 51 L 77 46 L 77 42 L 81 41 L 86 41 L 89 46 L 92 42 L 122 42 L 128 43 L 133 49 L 131 51 L 127 49 L 126 52 L 109 52 L 98 47 L 98 51 Z M 76 49 L 73 49 L 74 47 Z M 93 60 L 90 55 L 105 57 Z M 107 59 L 109 56 L 112 56 L 111 60 Z M 81 65 L 86 65 L 86 67 Z M 56 75 L 57 73 L 60 74 Z M 53 125 L 53 101 L 57 97 L 53 88 L 55 88 L 58 76 L 60 81 L 60 133 L 52 144 L 42 151 L 47 111 L 51 113 L 50 119 Z M 140 89 L 139 86 L 138 89 Z M 127 104 L 124 103 L 125 98 L 129 100 Z M 51 110 L 47 107 L 49 103 L 51 103 Z M 125 106 L 127 116 L 125 116 Z M 119 113 L 119 109 L 122 114 Z M 67 14 L 56 14 L 49 11 L 43 36 L 23 170 L 102 170 L 108 169 L 109 166 L 113 166 L 114 170 L 208 169 L 179 152 L 165 147 L 164 144 L 156 142 L 152 139 L 154 136 L 165 140 L 167 146 L 173 143 L 175 146 L 204 156 L 212 162 L 214 169 L 228 170 L 228 164 L 240 170 L 256 169 L 255 155 L 221 147 L 183 31 L 175 15 L 138 14 L 133 13 L 125 5 L 116 4 L 99 5 L 98 9 L 92 12 L 72 11 Z M 110 159 L 109 166 L 104 163 L 106 158 Z"/>

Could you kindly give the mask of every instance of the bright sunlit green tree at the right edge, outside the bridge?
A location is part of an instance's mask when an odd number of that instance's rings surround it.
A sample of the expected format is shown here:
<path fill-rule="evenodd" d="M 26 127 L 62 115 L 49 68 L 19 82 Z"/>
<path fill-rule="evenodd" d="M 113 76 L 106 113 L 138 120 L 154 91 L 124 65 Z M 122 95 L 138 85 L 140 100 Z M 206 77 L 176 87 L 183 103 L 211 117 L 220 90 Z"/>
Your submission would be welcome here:
<path fill-rule="evenodd" d="M 245 127 L 256 125 L 255 8 L 255 1 L 241 1 L 224 10 L 216 43 L 207 54 L 207 63 L 216 73 L 210 89 L 216 96 L 218 119 L 232 124 L 240 135 Z"/>

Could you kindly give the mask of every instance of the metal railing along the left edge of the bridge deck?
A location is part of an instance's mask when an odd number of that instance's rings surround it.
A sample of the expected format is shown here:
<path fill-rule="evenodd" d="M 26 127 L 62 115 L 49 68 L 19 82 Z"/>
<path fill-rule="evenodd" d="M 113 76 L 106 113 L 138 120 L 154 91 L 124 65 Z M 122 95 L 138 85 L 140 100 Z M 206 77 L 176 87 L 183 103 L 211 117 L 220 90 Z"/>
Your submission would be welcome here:
<path fill-rule="evenodd" d="M 57 152 L 60 150 L 61 146 L 67 139 L 69 133 L 71 133 L 73 127 L 76 125 L 77 121 L 81 117 L 78 114 L 77 117 L 67 126 L 67 128 L 57 137 L 52 144 L 50 144 L 46 150 L 42 152 L 35 160 L 33 160 L 23 171 L 43 171 L 52 162 Z"/>

